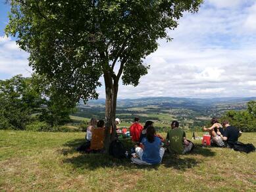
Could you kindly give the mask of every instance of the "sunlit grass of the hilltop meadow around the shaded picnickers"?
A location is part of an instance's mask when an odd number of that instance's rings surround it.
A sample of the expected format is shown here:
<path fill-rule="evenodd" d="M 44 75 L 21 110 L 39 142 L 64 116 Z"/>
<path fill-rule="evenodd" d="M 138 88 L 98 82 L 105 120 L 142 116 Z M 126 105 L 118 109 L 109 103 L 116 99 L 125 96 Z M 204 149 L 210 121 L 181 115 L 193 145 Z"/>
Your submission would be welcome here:
<path fill-rule="evenodd" d="M 255 191 L 256 153 L 202 148 L 166 154 L 159 166 L 136 166 L 77 153 L 84 133 L 0 130 L 0 191 Z M 163 135 L 165 135 L 163 133 Z M 202 135 L 202 133 L 197 133 Z M 188 138 L 192 133 L 188 133 Z M 256 145 L 256 133 L 243 133 Z M 123 141 L 126 147 L 132 143 Z"/>

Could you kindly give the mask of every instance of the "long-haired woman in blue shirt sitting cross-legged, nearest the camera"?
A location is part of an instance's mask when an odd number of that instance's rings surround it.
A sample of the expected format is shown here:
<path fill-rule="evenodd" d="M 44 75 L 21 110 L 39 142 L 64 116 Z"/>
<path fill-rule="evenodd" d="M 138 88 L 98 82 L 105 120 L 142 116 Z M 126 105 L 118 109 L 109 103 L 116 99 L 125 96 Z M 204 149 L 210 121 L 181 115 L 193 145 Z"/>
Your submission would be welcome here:
<path fill-rule="evenodd" d="M 159 164 L 165 153 L 161 143 L 161 139 L 155 136 L 155 128 L 148 126 L 146 136 L 141 141 L 141 147 L 135 149 L 136 155 L 148 164 Z"/>

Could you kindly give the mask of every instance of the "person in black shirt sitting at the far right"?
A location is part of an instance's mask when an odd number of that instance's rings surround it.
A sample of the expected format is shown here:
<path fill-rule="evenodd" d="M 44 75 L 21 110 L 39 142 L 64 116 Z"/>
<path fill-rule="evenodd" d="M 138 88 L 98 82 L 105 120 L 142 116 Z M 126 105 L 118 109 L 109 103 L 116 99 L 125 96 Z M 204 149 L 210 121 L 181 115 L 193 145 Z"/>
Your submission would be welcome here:
<path fill-rule="evenodd" d="M 238 128 L 230 126 L 227 120 L 224 120 L 224 122 L 222 122 L 222 126 L 225 128 L 224 133 L 222 135 L 220 132 L 218 132 L 218 135 L 220 135 L 223 141 L 227 142 L 228 147 L 233 148 L 234 143 L 238 141 L 238 137 L 242 135 L 242 132 L 240 132 Z"/>

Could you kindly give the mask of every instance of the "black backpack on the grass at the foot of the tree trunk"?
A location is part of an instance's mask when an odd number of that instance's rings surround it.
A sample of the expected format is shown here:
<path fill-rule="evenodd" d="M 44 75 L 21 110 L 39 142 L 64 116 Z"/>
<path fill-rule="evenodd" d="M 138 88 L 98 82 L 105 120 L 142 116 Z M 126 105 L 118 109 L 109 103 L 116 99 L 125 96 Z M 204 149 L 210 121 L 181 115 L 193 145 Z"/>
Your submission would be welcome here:
<path fill-rule="evenodd" d="M 116 139 L 112 141 L 109 146 L 109 155 L 114 156 L 115 158 L 125 158 L 126 157 L 126 149 L 124 148 L 124 144 L 121 141 Z"/>

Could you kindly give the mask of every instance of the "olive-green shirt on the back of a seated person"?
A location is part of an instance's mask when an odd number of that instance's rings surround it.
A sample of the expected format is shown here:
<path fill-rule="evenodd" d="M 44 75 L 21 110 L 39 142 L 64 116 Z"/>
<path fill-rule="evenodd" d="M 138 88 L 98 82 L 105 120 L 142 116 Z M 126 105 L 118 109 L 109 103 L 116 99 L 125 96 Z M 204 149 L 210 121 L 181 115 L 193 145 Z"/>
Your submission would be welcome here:
<path fill-rule="evenodd" d="M 184 137 L 186 137 L 186 134 L 180 128 L 169 130 L 167 133 L 167 138 L 170 143 L 168 151 L 174 151 L 175 153 L 182 154 L 184 151 Z"/>

